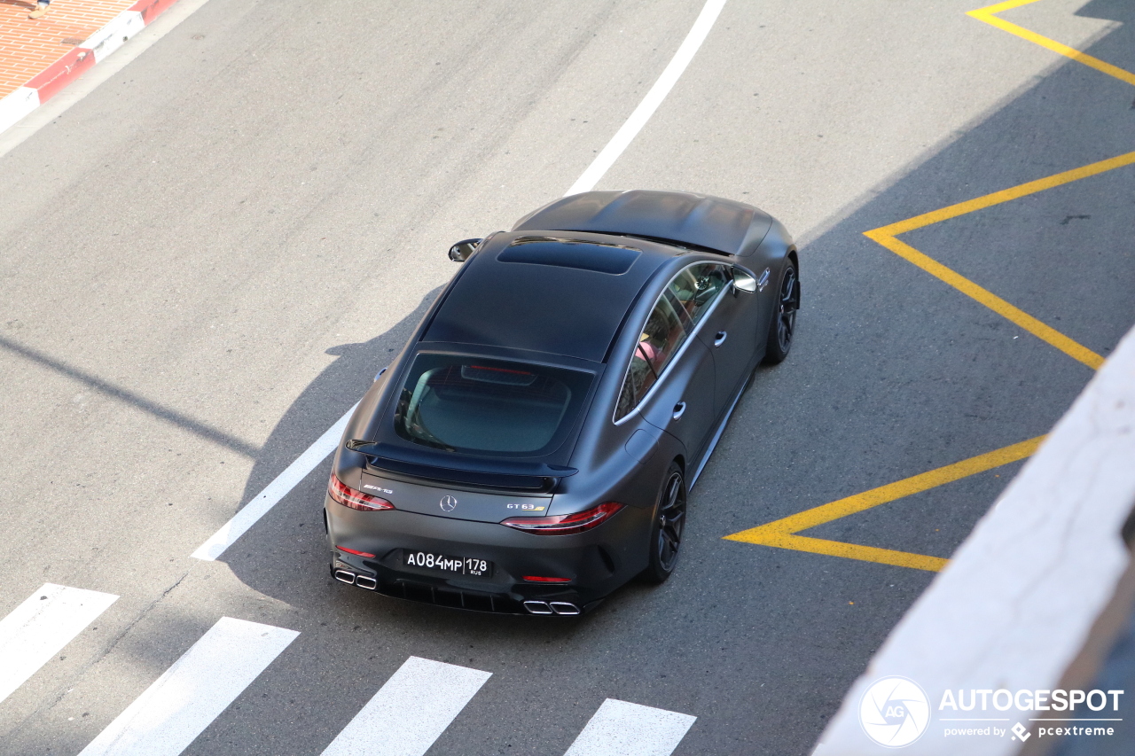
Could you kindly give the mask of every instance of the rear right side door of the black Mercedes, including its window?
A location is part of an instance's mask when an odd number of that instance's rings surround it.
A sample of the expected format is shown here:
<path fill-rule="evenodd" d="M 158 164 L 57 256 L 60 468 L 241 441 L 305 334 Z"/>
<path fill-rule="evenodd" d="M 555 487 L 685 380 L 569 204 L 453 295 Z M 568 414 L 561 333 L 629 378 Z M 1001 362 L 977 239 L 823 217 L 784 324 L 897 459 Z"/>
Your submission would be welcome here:
<path fill-rule="evenodd" d="M 627 371 L 616 417 L 634 409 L 676 437 L 690 460 L 705 446 L 715 418 L 713 355 L 691 337 L 690 320 L 666 291 L 655 302 Z"/>

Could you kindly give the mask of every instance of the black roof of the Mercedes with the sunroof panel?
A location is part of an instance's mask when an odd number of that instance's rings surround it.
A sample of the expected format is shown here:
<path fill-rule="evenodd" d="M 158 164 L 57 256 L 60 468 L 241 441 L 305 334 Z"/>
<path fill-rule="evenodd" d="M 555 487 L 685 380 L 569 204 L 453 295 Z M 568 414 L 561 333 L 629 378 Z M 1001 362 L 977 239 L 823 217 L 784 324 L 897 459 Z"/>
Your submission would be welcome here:
<path fill-rule="evenodd" d="M 604 362 L 644 286 L 683 252 L 600 234 L 495 234 L 464 262 L 421 341 Z"/>

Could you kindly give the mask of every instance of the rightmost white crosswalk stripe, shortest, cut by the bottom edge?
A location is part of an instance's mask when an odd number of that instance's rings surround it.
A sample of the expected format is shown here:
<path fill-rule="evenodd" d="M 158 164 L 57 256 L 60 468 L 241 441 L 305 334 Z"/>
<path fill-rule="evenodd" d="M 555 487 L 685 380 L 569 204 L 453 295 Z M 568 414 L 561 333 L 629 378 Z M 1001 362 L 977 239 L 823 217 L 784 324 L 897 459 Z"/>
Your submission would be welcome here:
<path fill-rule="evenodd" d="M 564 756 L 670 756 L 696 719 L 608 698 Z"/>

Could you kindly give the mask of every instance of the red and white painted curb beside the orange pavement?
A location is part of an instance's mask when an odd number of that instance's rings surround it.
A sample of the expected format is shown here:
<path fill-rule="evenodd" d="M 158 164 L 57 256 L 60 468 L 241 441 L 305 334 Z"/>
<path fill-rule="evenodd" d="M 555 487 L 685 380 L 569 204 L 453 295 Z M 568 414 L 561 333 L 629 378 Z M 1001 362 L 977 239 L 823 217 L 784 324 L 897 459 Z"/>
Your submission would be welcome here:
<path fill-rule="evenodd" d="M 107 56 L 145 28 L 176 0 L 138 0 L 115 16 L 82 44 L 48 66 L 8 96 L 0 99 L 0 132 L 16 125 L 22 118 L 58 94 L 83 75 L 86 69 L 102 62 Z"/>

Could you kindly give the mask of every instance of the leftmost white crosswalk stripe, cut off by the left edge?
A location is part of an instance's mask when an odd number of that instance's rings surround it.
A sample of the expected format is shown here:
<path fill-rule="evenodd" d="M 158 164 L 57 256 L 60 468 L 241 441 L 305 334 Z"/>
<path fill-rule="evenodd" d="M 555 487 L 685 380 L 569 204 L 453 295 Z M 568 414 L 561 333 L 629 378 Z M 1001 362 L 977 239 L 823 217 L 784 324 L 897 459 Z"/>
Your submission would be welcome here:
<path fill-rule="evenodd" d="M 0 700 L 116 600 L 114 594 L 45 582 L 0 620 Z"/>

